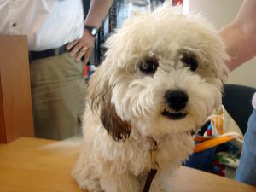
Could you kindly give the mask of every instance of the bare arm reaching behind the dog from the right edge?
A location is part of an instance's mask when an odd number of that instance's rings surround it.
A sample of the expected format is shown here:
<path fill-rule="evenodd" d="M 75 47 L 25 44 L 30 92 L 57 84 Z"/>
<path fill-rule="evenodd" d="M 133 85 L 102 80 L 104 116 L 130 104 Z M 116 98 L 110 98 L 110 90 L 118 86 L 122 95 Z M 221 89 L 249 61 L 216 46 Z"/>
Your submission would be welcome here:
<path fill-rule="evenodd" d="M 219 34 L 224 39 L 230 71 L 256 55 L 256 1 L 244 0 L 235 19 Z"/>

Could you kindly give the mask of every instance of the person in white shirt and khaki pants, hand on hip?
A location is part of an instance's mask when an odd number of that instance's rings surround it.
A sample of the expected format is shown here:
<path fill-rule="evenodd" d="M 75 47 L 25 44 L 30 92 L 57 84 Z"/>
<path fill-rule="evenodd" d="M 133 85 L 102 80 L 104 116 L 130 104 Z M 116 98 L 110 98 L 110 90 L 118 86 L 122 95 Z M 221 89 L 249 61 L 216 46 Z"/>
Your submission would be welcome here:
<path fill-rule="evenodd" d="M 80 132 L 84 64 L 113 0 L 0 1 L 0 34 L 27 35 L 36 137 L 64 139 Z M 81 58 L 84 57 L 84 63 Z"/>

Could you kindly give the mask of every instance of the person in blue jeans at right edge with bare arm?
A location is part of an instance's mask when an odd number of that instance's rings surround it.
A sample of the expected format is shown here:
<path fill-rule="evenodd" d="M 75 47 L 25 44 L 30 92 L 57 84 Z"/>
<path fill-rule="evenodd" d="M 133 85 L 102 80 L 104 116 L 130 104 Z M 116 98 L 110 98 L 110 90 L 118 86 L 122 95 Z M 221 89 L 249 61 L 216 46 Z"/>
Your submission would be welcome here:
<path fill-rule="evenodd" d="M 256 55 L 256 1 L 244 0 L 235 19 L 219 34 L 226 43 L 230 71 Z M 253 113 L 248 119 L 247 131 L 236 171 L 236 180 L 256 185 L 256 93 L 253 95 Z"/>

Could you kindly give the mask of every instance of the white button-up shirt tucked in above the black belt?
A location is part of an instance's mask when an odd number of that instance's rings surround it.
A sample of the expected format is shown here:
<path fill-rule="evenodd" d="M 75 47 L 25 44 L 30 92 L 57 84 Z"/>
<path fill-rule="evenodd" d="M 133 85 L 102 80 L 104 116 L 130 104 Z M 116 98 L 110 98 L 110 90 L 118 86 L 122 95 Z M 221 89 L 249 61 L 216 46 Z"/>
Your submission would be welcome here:
<path fill-rule="evenodd" d="M 0 34 L 27 35 L 29 50 L 61 47 L 83 34 L 81 0 L 0 0 Z"/>

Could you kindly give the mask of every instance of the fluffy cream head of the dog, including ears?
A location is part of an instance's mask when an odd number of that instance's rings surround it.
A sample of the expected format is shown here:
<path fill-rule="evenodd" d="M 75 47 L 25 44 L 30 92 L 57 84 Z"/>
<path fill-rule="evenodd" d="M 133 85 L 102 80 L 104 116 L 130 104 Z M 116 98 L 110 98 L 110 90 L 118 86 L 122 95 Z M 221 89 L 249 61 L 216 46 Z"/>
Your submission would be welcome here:
<path fill-rule="evenodd" d="M 166 5 L 134 15 L 107 47 L 88 102 L 115 140 L 132 129 L 150 137 L 189 131 L 220 105 L 228 56 L 200 15 Z"/>

